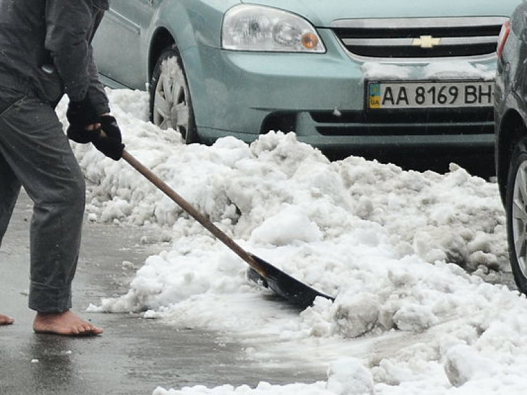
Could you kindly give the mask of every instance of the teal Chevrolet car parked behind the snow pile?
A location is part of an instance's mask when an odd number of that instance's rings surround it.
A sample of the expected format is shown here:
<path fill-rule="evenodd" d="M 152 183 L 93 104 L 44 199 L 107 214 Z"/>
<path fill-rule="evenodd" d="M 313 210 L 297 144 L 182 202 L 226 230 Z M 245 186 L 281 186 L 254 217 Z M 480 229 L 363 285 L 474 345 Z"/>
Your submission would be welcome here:
<path fill-rule="evenodd" d="M 492 151 L 496 44 L 520 0 L 112 0 L 102 80 L 187 143 Z"/>

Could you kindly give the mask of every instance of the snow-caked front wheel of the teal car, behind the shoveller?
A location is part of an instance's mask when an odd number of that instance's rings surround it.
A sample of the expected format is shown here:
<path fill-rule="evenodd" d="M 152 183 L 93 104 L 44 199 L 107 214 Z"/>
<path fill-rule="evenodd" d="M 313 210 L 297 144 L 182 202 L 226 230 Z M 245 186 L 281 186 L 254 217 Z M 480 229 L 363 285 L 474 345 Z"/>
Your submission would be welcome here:
<path fill-rule="evenodd" d="M 199 143 L 189 84 L 176 47 L 159 56 L 149 91 L 150 120 L 162 129 L 177 130 L 187 144 Z"/>

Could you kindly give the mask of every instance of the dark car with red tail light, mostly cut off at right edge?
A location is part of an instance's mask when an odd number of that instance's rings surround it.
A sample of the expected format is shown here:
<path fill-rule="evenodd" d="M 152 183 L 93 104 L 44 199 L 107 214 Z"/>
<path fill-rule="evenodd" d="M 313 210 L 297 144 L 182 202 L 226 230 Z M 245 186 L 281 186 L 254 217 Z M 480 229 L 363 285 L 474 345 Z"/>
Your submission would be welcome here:
<path fill-rule="evenodd" d="M 497 47 L 495 162 L 515 282 L 527 294 L 527 3 L 504 23 Z"/>

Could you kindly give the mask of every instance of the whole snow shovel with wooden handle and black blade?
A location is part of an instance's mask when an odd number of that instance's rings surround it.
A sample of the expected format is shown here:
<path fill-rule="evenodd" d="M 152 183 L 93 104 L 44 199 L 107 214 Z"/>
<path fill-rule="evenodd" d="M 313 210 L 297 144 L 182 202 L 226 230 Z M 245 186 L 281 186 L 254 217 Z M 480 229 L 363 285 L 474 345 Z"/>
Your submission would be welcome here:
<path fill-rule="evenodd" d="M 277 267 L 264 261 L 264 259 L 244 250 L 233 239 L 231 239 L 231 237 L 227 236 L 220 228 L 209 221 L 207 217 L 196 210 L 196 208 L 187 202 L 187 200 L 176 193 L 174 189 L 170 188 L 166 182 L 156 176 L 150 169 L 148 169 L 148 167 L 141 164 L 139 160 L 134 158 L 126 151 L 126 149 L 123 152 L 123 159 L 134 167 L 134 169 L 139 171 L 139 173 L 145 176 L 145 178 L 150 180 L 150 182 L 152 182 L 157 188 L 161 189 L 165 195 L 174 200 L 174 202 L 189 213 L 191 217 L 207 228 L 207 230 L 209 230 L 216 238 L 220 239 L 225 246 L 229 247 L 240 258 L 246 261 L 250 266 L 248 272 L 248 278 L 250 280 L 272 289 L 276 294 L 282 296 L 301 309 L 306 309 L 311 306 L 317 296 L 322 296 L 329 300 L 335 300 L 331 296 L 322 294 L 316 289 L 309 287 L 309 285 L 306 285 L 289 274 L 282 272 Z"/>

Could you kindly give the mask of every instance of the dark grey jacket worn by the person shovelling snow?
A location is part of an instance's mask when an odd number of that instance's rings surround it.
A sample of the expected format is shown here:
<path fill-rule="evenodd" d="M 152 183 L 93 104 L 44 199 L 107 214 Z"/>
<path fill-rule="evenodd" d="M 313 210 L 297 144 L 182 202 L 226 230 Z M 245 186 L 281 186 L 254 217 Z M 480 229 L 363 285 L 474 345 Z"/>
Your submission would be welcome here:
<path fill-rule="evenodd" d="M 0 86 L 12 81 L 50 103 L 89 93 L 108 112 L 91 49 L 107 9 L 108 0 L 0 0 Z"/>

